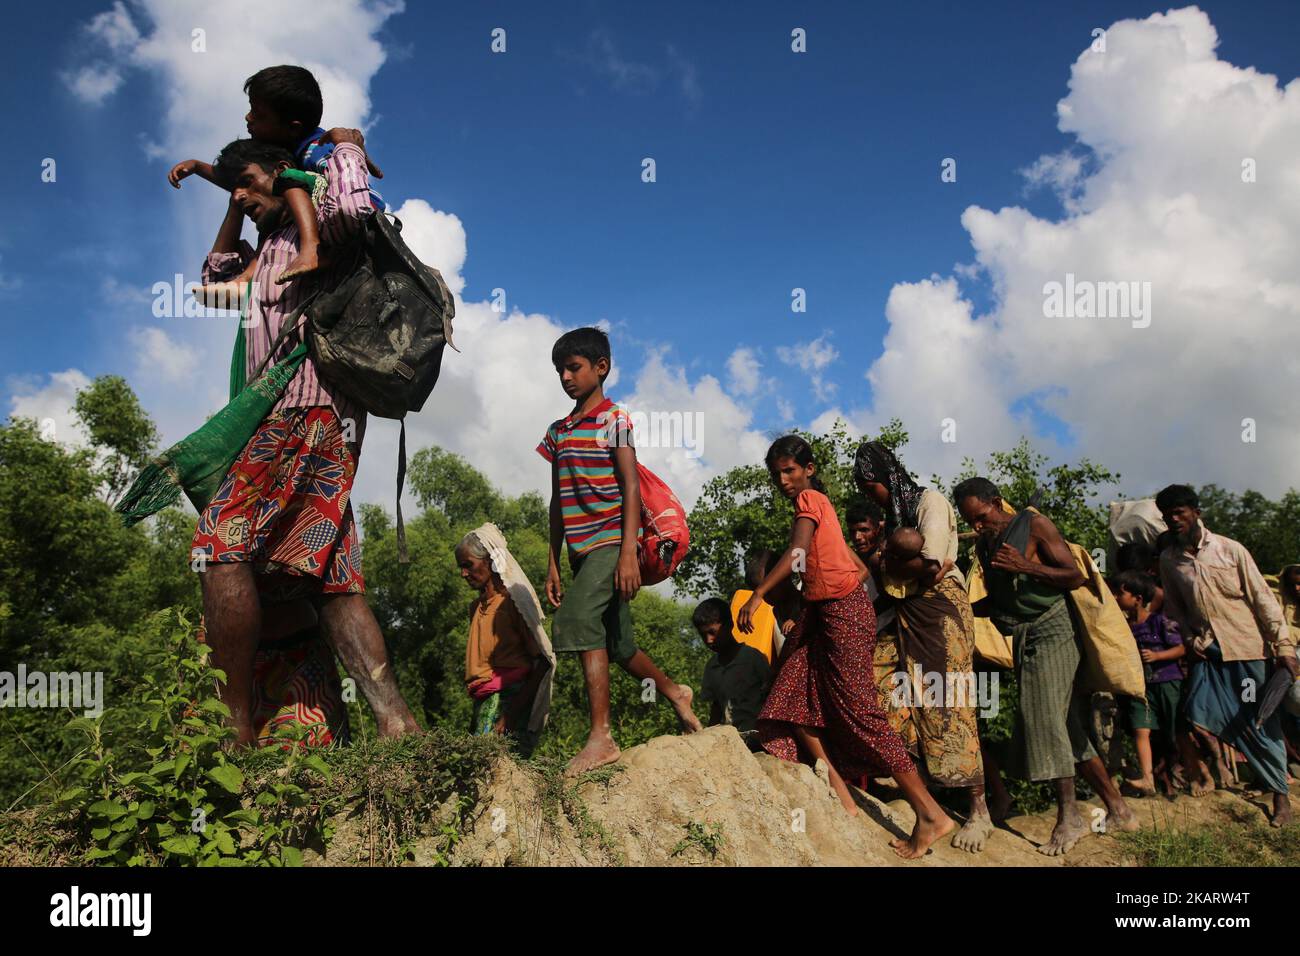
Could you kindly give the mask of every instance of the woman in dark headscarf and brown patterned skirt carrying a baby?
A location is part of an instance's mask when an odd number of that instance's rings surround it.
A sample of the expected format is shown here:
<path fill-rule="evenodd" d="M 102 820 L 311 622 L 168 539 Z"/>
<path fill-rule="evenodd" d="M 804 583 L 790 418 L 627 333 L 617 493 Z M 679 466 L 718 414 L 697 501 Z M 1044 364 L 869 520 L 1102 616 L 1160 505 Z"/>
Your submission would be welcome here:
<path fill-rule="evenodd" d="M 890 637 L 897 640 L 907 679 L 896 687 L 910 687 L 911 692 L 902 700 L 890 695 L 889 705 L 910 705 L 907 719 L 930 779 L 970 793 L 970 816 L 953 836 L 953 845 L 976 853 L 993 832 L 993 821 L 984 801 L 974 692 L 975 619 L 956 564 L 957 515 L 946 497 L 919 486 L 880 442 L 858 446 L 853 477 L 858 490 L 884 509 L 885 533 L 890 536 L 880 589 L 897 600 L 897 619 L 876 641 L 879 648 Z M 919 540 L 913 545 L 914 538 L 897 533 L 901 529 L 915 529 Z M 910 568 L 907 580 L 890 578 L 890 550 L 894 567 Z M 935 701 L 936 689 L 939 702 L 927 702 Z"/>

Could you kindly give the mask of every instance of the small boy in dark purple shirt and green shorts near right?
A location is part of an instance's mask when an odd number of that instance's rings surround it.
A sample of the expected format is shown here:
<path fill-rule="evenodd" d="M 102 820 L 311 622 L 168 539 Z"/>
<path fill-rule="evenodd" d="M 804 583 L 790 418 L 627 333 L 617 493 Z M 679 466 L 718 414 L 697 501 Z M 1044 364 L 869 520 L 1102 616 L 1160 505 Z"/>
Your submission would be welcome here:
<path fill-rule="evenodd" d="M 1186 653 L 1178 624 L 1160 611 L 1150 610 L 1156 597 L 1154 581 L 1136 568 L 1121 571 L 1110 580 L 1119 609 L 1128 618 L 1128 627 L 1138 643 L 1143 659 L 1143 675 L 1147 679 L 1145 697 L 1124 698 L 1128 708 L 1128 721 L 1132 724 L 1134 743 L 1138 747 L 1138 765 L 1141 779 L 1130 786 L 1141 796 L 1154 796 L 1156 778 L 1152 760 L 1152 731 L 1165 758 L 1165 773 L 1161 780 L 1165 791 L 1173 795 L 1169 767 L 1178 753 L 1179 740 L 1186 736 L 1187 718 L 1183 717 L 1183 671 L 1179 661 Z"/>

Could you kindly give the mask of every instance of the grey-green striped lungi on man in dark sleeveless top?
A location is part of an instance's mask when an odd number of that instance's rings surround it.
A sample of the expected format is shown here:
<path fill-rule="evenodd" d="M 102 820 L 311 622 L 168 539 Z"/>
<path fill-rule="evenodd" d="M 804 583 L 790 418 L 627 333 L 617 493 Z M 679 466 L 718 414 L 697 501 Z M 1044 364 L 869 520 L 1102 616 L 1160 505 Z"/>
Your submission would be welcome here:
<path fill-rule="evenodd" d="M 994 618 L 1011 636 L 1015 659 L 1013 775 L 1026 780 L 1074 777 L 1075 763 L 1097 756 L 1088 739 L 1088 697 L 1075 689 L 1082 654 L 1070 602 L 1060 601 L 1032 620 Z"/>

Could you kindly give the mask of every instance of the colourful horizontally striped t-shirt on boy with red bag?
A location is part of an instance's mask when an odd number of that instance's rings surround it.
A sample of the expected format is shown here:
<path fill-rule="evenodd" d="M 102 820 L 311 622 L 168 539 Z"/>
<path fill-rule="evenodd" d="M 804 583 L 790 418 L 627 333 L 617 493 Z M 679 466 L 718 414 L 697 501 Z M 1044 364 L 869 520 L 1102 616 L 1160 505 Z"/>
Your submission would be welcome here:
<path fill-rule="evenodd" d="M 581 418 L 551 423 L 537 454 L 559 476 L 560 515 L 569 558 L 623 544 L 623 492 L 614 449 L 632 446 L 632 419 L 606 398 Z"/>

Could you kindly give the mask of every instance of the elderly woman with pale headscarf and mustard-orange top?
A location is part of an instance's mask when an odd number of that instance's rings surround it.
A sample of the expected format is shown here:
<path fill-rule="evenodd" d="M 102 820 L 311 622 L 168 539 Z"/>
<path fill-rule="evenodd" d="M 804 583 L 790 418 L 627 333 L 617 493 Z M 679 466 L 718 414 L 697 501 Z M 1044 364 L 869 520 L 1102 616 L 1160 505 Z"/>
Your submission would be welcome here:
<path fill-rule="evenodd" d="M 469 606 L 465 644 L 465 689 L 474 700 L 469 730 L 510 734 L 528 756 L 546 726 L 555 675 L 542 605 L 490 522 L 460 540 L 456 564 L 478 592 Z"/>

